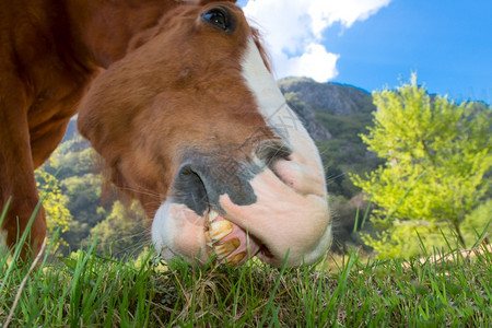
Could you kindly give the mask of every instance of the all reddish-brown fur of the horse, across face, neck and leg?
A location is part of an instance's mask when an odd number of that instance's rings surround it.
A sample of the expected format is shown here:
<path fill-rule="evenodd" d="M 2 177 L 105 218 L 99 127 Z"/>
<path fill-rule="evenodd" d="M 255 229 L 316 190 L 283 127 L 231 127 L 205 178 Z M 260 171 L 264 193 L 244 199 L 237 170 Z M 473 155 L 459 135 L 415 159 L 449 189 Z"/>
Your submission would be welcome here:
<path fill-rule="evenodd" d="M 164 195 L 177 167 L 179 145 L 203 138 L 203 127 L 196 121 L 213 124 L 226 115 L 230 124 L 248 122 L 248 128 L 234 133 L 231 126 L 215 124 L 216 136 L 233 139 L 234 144 L 263 125 L 249 106 L 251 96 L 237 83 L 245 36 L 256 33 L 244 17 L 234 39 L 199 26 L 196 14 L 210 2 L 214 1 L 191 5 L 177 0 L 0 0 L 0 210 L 11 198 L 2 224 L 9 246 L 24 231 L 38 201 L 33 171 L 56 149 L 91 84 L 96 95 L 83 101 L 80 129 L 105 157 L 113 180 L 126 190 Z M 185 47 L 184 40 L 194 33 L 202 37 Z M 104 69 L 108 70 L 99 78 L 112 78 L 95 79 Z M 202 74 L 199 83 L 190 85 L 196 74 Z M 162 83 L 173 86 L 160 93 Z M 142 85 L 144 90 L 139 90 Z M 117 110 L 105 107 L 113 103 Z M 236 110 L 225 113 L 224 106 L 231 105 Z M 214 112 L 213 106 L 222 109 Z M 163 127 L 166 130 L 159 137 L 169 138 L 155 140 L 153 131 Z M 132 143 L 120 142 L 128 133 Z M 174 147 L 163 153 L 163 142 Z M 149 214 L 155 210 L 155 199 L 132 196 L 144 206 L 154 203 L 147 207 Z M 45 234 L 40 211 L 31 232 L 34 253 Z"/>

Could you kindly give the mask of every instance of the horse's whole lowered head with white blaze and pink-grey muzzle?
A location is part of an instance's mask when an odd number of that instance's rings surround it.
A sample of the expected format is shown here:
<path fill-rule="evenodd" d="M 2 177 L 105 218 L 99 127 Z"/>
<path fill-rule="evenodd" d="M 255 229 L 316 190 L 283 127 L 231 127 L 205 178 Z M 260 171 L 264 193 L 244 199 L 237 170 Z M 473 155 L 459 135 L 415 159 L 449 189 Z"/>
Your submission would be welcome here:
<path fill-rule="evenodd" d="M 79 129 L 164 258 L 311 263 L 331 241 L 324 168 L 234 2 L 186 3 L 136 35 Z"/>

